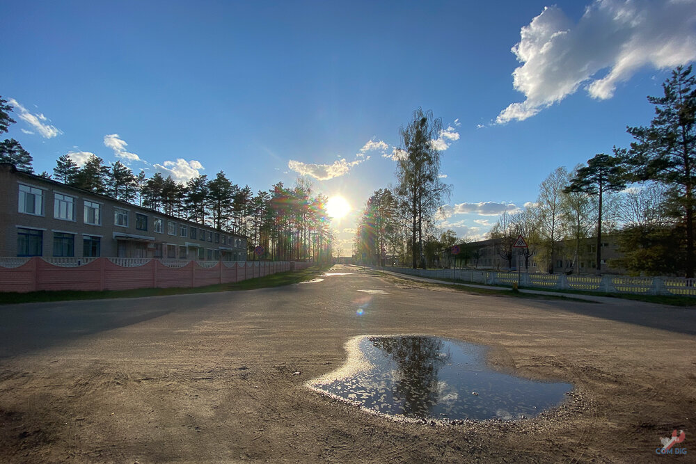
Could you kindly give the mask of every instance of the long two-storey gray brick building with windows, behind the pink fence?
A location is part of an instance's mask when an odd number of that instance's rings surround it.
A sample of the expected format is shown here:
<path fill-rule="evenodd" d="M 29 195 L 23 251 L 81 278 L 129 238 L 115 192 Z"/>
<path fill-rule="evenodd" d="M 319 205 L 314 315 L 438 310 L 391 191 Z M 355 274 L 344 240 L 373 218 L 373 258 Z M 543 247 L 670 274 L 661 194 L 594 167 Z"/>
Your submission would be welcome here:
<path fill-rule="evenodd" d="M 0 163 L 0 256 L 246 261 L 246 237 Z"/>

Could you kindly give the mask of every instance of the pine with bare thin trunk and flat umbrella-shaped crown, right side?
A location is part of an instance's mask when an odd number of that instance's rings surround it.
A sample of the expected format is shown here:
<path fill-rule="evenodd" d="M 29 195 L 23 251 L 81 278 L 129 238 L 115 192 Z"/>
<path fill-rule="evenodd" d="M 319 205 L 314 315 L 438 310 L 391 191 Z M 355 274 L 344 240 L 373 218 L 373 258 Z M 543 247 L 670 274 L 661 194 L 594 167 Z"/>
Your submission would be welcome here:
<path fill-rule="evenodd" d="M 596 272 L 601 274 L 602 263 L 602 200 L 605 192 L 626 188 L 626 171 L 618 157 L 599 153 L 587 160 L 587 166 L 578 168 L 564 192 L 584 192 L 596 195 L 597 205 L 597 257 Z"/>

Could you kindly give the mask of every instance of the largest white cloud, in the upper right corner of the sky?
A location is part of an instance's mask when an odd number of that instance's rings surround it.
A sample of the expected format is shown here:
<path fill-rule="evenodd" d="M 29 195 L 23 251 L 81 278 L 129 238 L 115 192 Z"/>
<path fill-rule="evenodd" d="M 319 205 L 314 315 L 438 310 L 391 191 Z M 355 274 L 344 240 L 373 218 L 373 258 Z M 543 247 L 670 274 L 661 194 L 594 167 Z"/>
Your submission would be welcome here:
<path fill-rule="evenodd" d="M 544 8 L 512 47 L 522 63 L 513 85 L 526 99 L 507 106 L 496 123 L 530 118 L 583 84 L 590 97 L 608 99 L 641 68 L 695 60 L 695 23 L 690 0 L 595 0 L 578 24 L 557 6 Z"/>

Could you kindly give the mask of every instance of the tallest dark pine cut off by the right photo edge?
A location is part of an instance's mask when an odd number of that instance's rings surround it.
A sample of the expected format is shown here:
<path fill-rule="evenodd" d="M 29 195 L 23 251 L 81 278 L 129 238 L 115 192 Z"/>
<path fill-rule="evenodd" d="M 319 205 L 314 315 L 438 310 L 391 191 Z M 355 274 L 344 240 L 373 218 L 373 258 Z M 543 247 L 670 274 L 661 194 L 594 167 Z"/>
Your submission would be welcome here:
<path fill-rule="evenodd" d="M 637 180 L 654 180 L 670 188 L 686 222 L 686 277 L 693 278 L 694 175 L 696 165 L 696 77 L 692 67 L 679 66 L 663 83 L 649 127 L 628 127 L 635 138 L 626 161 Z"/>

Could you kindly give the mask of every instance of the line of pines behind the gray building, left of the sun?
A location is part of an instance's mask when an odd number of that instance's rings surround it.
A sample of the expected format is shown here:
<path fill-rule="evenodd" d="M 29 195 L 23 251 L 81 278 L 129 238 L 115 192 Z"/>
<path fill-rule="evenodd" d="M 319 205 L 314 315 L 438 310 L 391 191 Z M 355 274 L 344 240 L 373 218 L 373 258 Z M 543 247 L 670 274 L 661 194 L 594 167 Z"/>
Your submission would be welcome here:
<path fill-rule="evenodd" d="M 0 98 L 0 133 L 15 122 L 10 111 L 12 106 Z M 31 154 L 14 139 L 0 143 L 0 162 L 33 173 L 32 161 Z M 40 175 L 247 237 L 251 259 L 313 260 L 321 264 L 331 260 L 334 233 L 326 215 L 327 198 L 314 194 L 305 179 L 299 179 L 292 188 L 278 182 L 254 194 L 248 185 L 232 183 L 222 170 L 211 179 L 198 175 L 177 182 L 161 173 L 148 178 L 144 170 L 136 175 L 120 161 L 107 165 L 94 154 L 81 167 L 65 154 L 56 160 L 52 175 Z M 258 246 L 260 253 L 255 253 Z"/>

